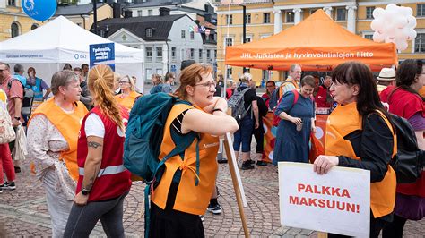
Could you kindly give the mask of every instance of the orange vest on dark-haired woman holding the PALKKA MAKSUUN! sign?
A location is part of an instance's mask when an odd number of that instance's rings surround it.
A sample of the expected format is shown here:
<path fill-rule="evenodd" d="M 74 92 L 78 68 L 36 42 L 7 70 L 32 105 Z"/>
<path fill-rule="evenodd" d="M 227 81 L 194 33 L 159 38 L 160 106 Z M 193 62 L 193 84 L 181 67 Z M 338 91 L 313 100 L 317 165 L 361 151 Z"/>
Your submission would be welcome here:
<path fill-rule="evenodd" d="M 345 106 L 338 105 L 326 122 L 325 155 L 344 156 L 354 159 L 357 157 L 351 146 L 350 140 L 345 140 L 344 136 L 356 130 L 362 130 L 362 118 L 357 111 L 357 104 L 351 103 Z M 393 128 L 388 119 L 379 112 L 385 120 L 388 128 L 393 132 Z M 393 157 L 397 153 L 397 140 L 394 134 Z M 395 171 L 389 165 L 386 175 L 381 182 L 370 183 L 370 208 L 373 216 L 383 217 L 390 214 L 395 206 Z"/>

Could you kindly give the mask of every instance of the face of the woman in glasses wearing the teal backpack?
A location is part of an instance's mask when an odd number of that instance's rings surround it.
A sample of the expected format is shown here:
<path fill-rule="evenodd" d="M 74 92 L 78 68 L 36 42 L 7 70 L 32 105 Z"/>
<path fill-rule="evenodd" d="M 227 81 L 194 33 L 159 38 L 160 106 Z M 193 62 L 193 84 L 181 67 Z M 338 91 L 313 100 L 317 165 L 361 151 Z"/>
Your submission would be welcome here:
<path fill-rule="evenodd" d="M 195 84 L 195 87 L 187 86 L 187 93 L 193 98 L 195 104 L 204 108 L 213 103 L 216 82 L 211 73 L 201 75 L 202 81 Z"/>

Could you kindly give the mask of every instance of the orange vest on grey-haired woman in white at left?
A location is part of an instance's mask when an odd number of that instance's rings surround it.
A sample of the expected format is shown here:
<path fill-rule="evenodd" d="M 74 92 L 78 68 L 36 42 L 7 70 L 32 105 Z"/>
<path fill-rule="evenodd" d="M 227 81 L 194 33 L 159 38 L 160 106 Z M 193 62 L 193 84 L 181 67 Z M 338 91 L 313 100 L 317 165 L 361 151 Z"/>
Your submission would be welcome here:
<path fill-rule="evenodd" d="M 35 115 L 45 115 L 48 121 L 50 121 L 65 138 L 69 149 L 61 152 L 59 160 L 65 161 L 66 168 L 68 168 L 69 174 L 74 181 L 78 181 L 78 134 L 80 132 L 82 118 L 88 112 L 82 102 L 76 103 L 77 106 L 74 107 L 74 113 L 67 114 L 60 106 L 55 104 L 54 98 L 50 98 L 37 107 L 36 111 L 30 117 L 31 120 Z M 30 121 L 28 123 L 30 124 Z"/>

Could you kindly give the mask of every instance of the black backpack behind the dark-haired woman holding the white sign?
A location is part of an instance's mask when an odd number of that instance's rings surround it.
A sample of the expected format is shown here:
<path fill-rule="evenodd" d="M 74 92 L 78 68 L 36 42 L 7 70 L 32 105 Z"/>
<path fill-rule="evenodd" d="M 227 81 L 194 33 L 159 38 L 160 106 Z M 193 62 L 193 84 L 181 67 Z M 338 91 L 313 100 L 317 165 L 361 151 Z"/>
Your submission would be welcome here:
<path fill-rule="evenodd" d="M 397 154 L 390 162 L 397 183 L 415 183 L 421 177 L 425 150 L 418 148 L 412 125 L 398 115 L 390 114 L 397 134 Z"/>

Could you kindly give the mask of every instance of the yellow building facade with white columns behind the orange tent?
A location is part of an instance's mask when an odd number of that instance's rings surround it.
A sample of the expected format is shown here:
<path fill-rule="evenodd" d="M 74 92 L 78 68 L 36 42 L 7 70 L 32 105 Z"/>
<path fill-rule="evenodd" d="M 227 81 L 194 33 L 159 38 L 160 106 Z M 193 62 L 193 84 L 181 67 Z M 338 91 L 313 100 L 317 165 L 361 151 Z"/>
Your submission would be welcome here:
<path fill-rule="evenodd" d="M 238 79 L 242 74 L 241 67 L 230 67 L 224 64 L 225 47 L 243 43 L 243 13 L 242 6 L 237 4 L 220 4 L 216 0 L 217 8 L 217 63 L 222 72 L 228 72 L 228 78 Z M 400 60 L 408 58 L 425 59 L 425 2 L 413 0 L 377 1 L 377 0 L 245 0 L 246 6 L 246 42 L 270 37 L 282 30 L 308 18 L 317 9 L 323 9 L 334 21 L 343 28 L 371 39 L 373 30 L 370 23 L 373 21 L 373 10 L 377 7 L 385 8 L 386 4 L 399 4 L 411 7 L 417 19 L 416 31 L 418 36 L 403 52 L 399 52 Z M 228 24 L 229 23 L 229 24 Z M 295 36 L 296 37 L 296 36 Z M 282 72 L 247 69 L 258 82 L 267 80 L 282 80 Z"/>

